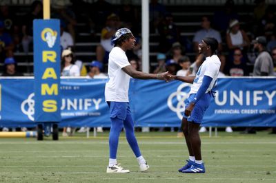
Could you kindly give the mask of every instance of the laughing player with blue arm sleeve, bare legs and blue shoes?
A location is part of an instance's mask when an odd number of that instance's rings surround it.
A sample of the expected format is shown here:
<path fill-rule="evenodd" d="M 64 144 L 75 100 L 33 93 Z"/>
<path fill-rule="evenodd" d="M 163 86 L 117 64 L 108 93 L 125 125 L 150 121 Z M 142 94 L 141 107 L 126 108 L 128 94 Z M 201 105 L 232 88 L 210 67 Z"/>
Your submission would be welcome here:
<path fill-rule="evenodd" d="M 204 163 L 201 159 L 199 125 L 210 104 L 210 99 L 213 97 L 212 88 L 219 74 L 221 63 L 215 54 L 217 47 L 216 39 L 206 37 L 198 46 L 199 54 L 204 54 L 206 60 L 199 67 L 196 76 L 170 76 L 172 79 L 193 83 L 181 125 L 189 151 L 187 164 L 179 169 L 181 173 L 205 173 Z"/>

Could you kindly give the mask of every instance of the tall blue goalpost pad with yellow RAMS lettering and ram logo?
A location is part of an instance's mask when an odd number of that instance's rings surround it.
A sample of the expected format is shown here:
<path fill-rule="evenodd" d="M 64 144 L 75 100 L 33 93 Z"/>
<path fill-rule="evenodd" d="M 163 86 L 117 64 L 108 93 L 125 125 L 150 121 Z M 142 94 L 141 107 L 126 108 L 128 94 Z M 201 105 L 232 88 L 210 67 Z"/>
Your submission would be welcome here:
<path fill-rule="evenodd" d="M 34 121 L 59 122 L 60 39 L 58 19 L 35 19 Z"/>

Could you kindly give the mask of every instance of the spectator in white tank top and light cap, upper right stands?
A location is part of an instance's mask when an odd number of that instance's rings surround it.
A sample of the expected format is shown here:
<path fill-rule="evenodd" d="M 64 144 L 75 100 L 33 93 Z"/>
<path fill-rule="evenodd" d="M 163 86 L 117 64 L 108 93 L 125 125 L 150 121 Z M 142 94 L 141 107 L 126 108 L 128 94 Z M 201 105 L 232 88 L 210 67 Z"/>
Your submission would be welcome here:
<path fill-rule="evenodd" d="M 237 19 L 233 19 L 229 23 L 229 29 L 226 33 L 226 43 L 229 50 L 234 50 L 235 48 L 244 50 L 250 44 L 246 32 L 239 28 L 239 21 Z"/>

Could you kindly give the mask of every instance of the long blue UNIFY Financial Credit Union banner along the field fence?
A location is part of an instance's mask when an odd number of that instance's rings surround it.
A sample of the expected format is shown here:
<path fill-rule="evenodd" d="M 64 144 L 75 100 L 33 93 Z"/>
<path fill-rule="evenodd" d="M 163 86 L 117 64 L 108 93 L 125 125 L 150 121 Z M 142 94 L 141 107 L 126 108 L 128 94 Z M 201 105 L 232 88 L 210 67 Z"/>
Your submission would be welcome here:
<path fill-rule="evenodd" d="M 59 127 L 110 127 L 105 79 L 62 78 Z M 276 78 L 219 78 L 202 125 L 276 127 Z M 190 84 L 130 80 L 136 126 L 179 127 Z M 34 79 L 0 79 L 0 127 L 34 127 Z"/>

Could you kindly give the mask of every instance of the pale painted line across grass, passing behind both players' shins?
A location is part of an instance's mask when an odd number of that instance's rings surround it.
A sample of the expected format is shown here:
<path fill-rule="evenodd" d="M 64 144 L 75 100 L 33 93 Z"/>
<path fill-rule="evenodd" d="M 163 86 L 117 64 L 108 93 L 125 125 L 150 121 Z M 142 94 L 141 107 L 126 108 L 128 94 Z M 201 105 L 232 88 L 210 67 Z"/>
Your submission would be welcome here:
<path fill-rule="evenodd" d="M 0 144 L 108 144 L 108 142 L 0 142 Z M 119 142 L 128 144 L 128 142 Z M 184 144 L 184 142 L 139 142 L 139 144 Z M 201 144 L 276 144 L 276 142 L 201 142 Z"/>

